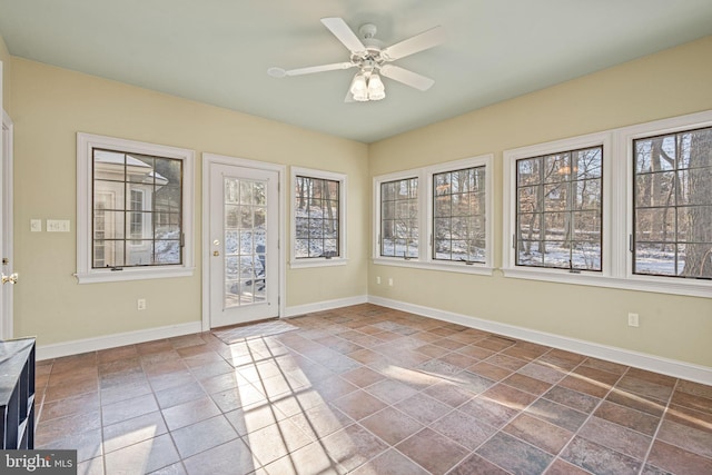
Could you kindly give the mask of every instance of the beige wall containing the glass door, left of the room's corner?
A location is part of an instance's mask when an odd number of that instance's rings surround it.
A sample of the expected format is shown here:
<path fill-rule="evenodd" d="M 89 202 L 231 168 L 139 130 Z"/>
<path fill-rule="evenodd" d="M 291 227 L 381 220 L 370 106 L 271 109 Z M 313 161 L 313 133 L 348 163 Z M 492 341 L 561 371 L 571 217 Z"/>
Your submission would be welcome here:
<path fill-rule="evenodd" d="M 19 58 L 12 58 L 11 72 L 16 270 L 21 275 L 16 336 L 37 335 L 39 345 L 48 345 L 200 320 L 200 154 L 206 151 L 347 174 L 349 263 L 288 269 L 286 299 L 291 307 L 366 295 L 363 229 L 370 184 L 365 145 Z M 191 278 L 77 284 L 79 131 L 196 150 L 197 270 Z M 69 219 L 72 231 L 30 232 L 33 218 Z M 139 297 L 148 299 L 140 313 Z"/>

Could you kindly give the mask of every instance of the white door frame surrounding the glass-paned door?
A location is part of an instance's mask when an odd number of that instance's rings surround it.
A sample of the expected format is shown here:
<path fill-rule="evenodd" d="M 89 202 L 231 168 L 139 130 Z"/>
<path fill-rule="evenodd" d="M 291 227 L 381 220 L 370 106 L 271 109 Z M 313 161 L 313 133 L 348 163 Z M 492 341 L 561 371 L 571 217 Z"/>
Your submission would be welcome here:
<path fill-rule="evenodd" d="M 243 168 L 255 168 L 258 170 L 276 171 L 279 177 L 279 186 L 277 187 L 278 199 L 278 222 L 277 229 L 278 239 L 278 259 L 279 259 L 279 276 L 278 293 L 277 295 L 277 311 L 279 318 L 284 317 L 287 299 L 285 297 L 285 289 L 287 288 L 286 276 L 286 215 L 285 215 L 285 176 L 286 167 L 284 165 L 267 164 L 264 161 L 248 160 L 245 158 L 228 157 L 216 154 L 202 154 L 202 240 L 200 255 L 202 257 L 202 331 L 210 330 L 210 166 L 218 165 L 233 165 Z"/>

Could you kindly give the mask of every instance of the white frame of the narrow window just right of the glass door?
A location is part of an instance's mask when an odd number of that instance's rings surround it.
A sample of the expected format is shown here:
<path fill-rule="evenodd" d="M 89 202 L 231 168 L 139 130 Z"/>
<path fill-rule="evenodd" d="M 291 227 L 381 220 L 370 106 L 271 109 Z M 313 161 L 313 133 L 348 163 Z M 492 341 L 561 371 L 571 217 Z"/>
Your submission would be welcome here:
<path fill-rule="evenodd" d="M 327 267 L 327 266 L 344 266 L 348 263 L 346 254 L 346 187 L 347 180 L 345 174 L 337 174 L 334 171 L 316 170 L 312 168 L 290 167 L 291 175 L 291 192 L 290 198 L 290 217 L 291 217 L 291 246 L 289 267 L 293 269 L 307 268 L 307 267 Z M 297 176 L 316 178 L 322 180 L 338 181 L 338 256 L 335 257 L 309 257 L 297 258 L 296 244 L 297 244 L 297 211 L 296 211 L 296 182 Z"/>

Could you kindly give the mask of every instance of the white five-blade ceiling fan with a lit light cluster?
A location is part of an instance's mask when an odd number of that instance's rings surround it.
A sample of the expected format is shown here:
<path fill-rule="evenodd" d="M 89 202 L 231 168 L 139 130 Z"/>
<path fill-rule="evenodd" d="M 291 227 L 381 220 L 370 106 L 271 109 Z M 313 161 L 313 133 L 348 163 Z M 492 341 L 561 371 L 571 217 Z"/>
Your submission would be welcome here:
<path fill-rule="evenodd" d="M 386 89 L 380 76 L 422 91 L 429 89 L 435 83 L 431 78 L 392 65 L 392 62 L 443 43 L 445 41 L 445 31 L 442 27 L 431 28 L 415 37 L 383 48 L 382 42 L 375 38 L 376 27 L 374 24 L 362 26 L 358 29 L 359 38 L 342 18 L 323 18 L 322 23 L 350 51 L 349 61 L 288 70 L 273 67 L 267 70 L 267 73 L 274 78 L 284 78 L 286 76 L 358 68 L 358 72 L 356 72 L 348 88 L 346 102 L 362 102 L 385 98 Z"/>

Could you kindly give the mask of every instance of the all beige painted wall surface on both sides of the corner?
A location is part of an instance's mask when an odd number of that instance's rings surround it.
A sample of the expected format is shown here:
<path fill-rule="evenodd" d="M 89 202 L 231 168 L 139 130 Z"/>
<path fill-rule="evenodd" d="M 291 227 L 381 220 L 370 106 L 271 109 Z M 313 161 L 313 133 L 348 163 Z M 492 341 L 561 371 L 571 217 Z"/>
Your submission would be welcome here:
<path fill-rule="evenodd" d="M 0 44 L 0 57 L 6 55 Z M 712 38 L 365 146 L 126 85 L 12 58 L 6 102 L 16 125 L 16 335 L 40 345 L 200 318 L 200 255 L 192 278 L 78 285 L 76 133 L 196 150 L 200 246 L 200 152 L 348 175 L 345 267 L 288 270 L 287 305 L 364 296 L 516 325 L 712 367 L 712 299 L 587 288 L 370 263 L 372 177 L 495 154 L 495 265 L 501 260 L 503 150 L 712 109 Z M 32 218 L 70 219 L 72 232 L 29 232 Z M 375 285 L 375 277 L 395 286 Z M 149 299 L 138 313 L 136 299 Z M 626 326 L 629 311 L 641 327 Z"/>

